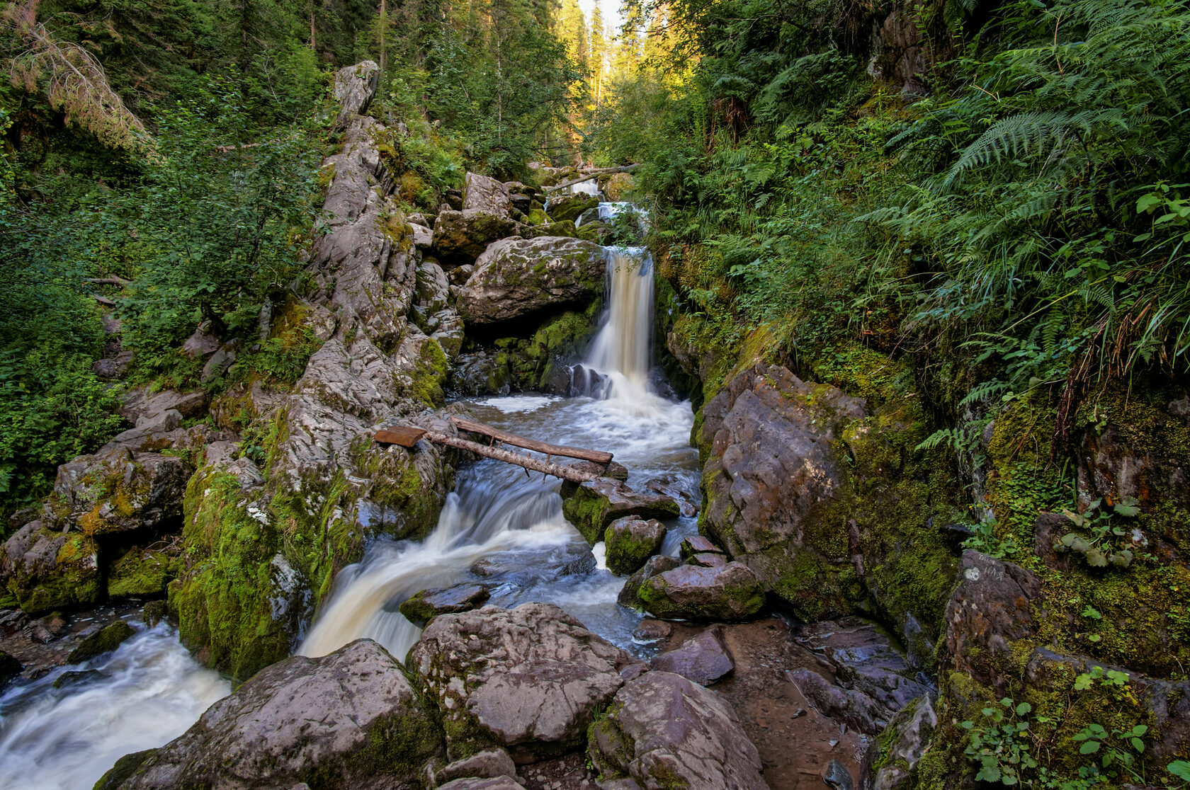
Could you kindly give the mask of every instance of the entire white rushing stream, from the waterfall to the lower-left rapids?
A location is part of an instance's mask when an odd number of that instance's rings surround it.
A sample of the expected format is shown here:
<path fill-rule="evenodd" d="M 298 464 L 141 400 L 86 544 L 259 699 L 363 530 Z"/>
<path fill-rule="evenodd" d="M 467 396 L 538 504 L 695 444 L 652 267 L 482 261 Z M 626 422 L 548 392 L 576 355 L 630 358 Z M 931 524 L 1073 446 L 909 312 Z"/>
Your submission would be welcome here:
<path fill-rule="evenodd" d="M 601 205 L 600 213 L 618 207 Z M 475 416 L 555 444 L 608 450 L 640 489 L 662 478 L 696 490 L 697 453 L 689 446 L 689 403 L 650 387 L 652 270 L 647 252 L 608 247 L 608 311 L 576 384 L 589 395 L 536 394 L 471 403 Z M 581 381 L 577 381 L 581 378 Z M 399 659 L 420 631 L 397 607 L 418 590 L 463 581 L 491 585 L 490 603 L 552 602 L 627 648 L 639 615 L 619 607 L 624 578 L 602 563 L 562 515 L 559 482 L 519 466 L 483 460 L 458 475 L 438 526 L 422 541 L 381 539 L 344 569 L 298 652 L 322 656 L 368 637 Z M 664 551 L 677 553 L 693 519 L 670 525 Z M 98 673 L 54 689 L 64 670 L 0 697 L 0 790 L 89 788 L 123 754 L 180 735 L 230 691 L 202 669 L 167 626 L 143 631 L 82 667 Z"/>

